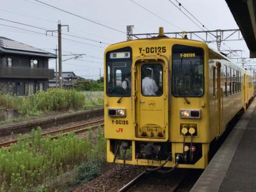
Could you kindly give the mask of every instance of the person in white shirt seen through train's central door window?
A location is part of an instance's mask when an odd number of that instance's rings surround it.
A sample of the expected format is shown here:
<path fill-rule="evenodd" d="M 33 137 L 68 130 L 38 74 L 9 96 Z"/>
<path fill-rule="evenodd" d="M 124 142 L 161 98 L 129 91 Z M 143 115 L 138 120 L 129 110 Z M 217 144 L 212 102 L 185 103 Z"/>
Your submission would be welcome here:
<path fill-rule="evenodd" d="M 156 92 L 158 91 L 158 87 L 156 81 L 151 79 L 151 70 L 149 68 L 145 68 L 145 77 L 142 79 L 142 94 L 146 96 L 156 96 Z"/>

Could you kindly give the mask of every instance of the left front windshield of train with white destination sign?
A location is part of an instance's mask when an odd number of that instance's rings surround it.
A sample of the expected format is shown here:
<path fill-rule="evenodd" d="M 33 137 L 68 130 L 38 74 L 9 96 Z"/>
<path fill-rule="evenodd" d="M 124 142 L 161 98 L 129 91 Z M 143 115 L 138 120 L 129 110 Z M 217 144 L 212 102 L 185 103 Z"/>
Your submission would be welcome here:
<path fill-rule="evenodd" d="M 108 96 L 131 96 L 131 51 L 126 49 L 108 52 L 106 91 Z"/>

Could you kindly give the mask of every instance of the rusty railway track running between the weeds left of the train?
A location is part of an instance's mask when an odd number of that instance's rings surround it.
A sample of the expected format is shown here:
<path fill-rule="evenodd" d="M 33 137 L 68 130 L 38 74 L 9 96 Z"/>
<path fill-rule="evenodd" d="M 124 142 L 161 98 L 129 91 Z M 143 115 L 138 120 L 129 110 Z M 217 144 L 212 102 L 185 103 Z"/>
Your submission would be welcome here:
<path fill-rule="evenodd" d="M 59 133 L 68 133 L 68 132 L 74 131 L 75 134 L 81 134 L 82 132 L 86 132 L 89 129 L 95 129 L 95 128 L 97 128 L 99 126 L 103 126 L 103 125 L 104 125 L 104 120 L 97 120 L 97 121 L 86 123 L 86 124 L 74 125 L 74 126 L 67 127 L 64 129 L 44 132 L 41 134 L 41 136 L 52 135 L 52 140 L 53 140 L 53 139 L 58 138 L 57 134 L 59 134 Z M 18 140 L 12 140 L 12 141 L 6 141 L 3 143 L 0 143 L 0 148 L 1 147 L 9 147 L 12 143 L 17 143 L 17 141 Z"/>

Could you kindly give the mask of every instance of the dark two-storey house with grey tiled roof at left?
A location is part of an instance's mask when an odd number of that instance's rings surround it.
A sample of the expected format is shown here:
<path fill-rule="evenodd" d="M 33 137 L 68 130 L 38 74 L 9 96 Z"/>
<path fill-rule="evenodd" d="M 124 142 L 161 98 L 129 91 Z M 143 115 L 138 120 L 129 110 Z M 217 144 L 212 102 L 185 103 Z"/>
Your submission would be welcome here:
<path fill-rule="evenodd" d="M 49 59 L 56 57 L 51 52 L 0 36 L 0 93 L 31 95 L 47 90 L 49 79 L 54 78 Z"/>

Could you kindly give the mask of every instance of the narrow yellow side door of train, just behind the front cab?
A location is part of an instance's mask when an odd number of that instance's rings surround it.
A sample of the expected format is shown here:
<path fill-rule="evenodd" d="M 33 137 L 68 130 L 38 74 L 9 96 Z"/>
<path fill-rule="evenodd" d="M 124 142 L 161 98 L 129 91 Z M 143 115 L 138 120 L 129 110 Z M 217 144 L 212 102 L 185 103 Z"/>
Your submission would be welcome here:
<path fill-rule="evenodd" d="M 216 93 L 216 103 L 217 103 L 217 130 L 218 134 L 221 134 L 221 127 L 223 127 L 223 88 L 221 87 L 221 63 L 216 63 L 217 68 L 217 93 Z"/>

